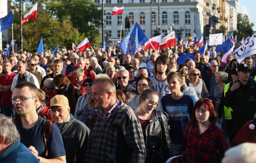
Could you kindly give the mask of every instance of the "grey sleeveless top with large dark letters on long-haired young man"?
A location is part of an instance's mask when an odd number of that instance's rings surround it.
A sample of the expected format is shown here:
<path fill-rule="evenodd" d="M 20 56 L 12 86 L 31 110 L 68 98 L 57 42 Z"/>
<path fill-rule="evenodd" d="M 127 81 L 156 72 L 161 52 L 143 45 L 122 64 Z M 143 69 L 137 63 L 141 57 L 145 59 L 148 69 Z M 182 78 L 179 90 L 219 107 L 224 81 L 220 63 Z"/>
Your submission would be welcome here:
<path fill-rule="evenodd" d="M 152 85 L 155 88 L 156 92 L 158 93 L 160 99 L 164 95 L 170 94 L 167 84 L 167 78 L 163 81 L 159 81 L 156 79 L 156 76 L 153 76 L 150 78 L 150 80 L 152 81 Z"/>

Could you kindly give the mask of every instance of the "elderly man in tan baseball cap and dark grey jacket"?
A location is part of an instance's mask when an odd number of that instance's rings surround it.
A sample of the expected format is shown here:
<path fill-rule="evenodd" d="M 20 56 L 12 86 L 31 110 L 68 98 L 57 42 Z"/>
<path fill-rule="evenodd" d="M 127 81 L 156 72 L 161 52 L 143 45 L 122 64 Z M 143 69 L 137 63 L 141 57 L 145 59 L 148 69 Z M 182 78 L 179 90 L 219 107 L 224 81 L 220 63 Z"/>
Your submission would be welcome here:
<path fill-rule="evenodd" d="M 58 126 L 62 135 L 66 151 L 67 163 L 84 162 L 89 129 L 70 114 L 68 98 L 64 95 L 56 95 L 51 99 L 54 124 Z"/>

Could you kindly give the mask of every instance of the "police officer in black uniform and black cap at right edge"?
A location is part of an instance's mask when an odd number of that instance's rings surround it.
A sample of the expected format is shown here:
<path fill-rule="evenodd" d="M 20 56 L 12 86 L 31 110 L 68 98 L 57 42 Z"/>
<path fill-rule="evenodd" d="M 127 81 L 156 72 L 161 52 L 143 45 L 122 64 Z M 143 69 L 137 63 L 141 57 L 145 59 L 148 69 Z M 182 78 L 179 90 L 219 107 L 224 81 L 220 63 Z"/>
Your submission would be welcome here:
<path fill-rule="evenodd" d="M 236 135 L 242 126 L 253 119 L 256 112 L 256 91 L 254 81 L 249 80 L 250 69 L 240 64 L 237 69 L 239 80 L 231 85 L 224 98 L 224 105 L 231 107 L 233 133 Z"/>

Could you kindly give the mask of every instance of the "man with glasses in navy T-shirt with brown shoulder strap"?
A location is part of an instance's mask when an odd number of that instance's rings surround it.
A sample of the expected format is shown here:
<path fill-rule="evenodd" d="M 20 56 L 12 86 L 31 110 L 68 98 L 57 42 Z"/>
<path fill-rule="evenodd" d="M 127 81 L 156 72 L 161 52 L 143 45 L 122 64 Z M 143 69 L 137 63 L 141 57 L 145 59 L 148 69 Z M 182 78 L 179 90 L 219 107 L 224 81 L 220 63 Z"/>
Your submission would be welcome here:
<path fill-rule="evenodd" d="M 30 82 L 17 84 L 12 101 L 19 115 L 14 122 L 20 134 L 20 142 L 34 154 L 39 162 L 66 163 L 62 137 L 55 124 L 47 126 L 51 127 L 51 131 L 45 143 L 45 121 L 36 111 L 36 104 L 39 102 L 37 86 Z"/>

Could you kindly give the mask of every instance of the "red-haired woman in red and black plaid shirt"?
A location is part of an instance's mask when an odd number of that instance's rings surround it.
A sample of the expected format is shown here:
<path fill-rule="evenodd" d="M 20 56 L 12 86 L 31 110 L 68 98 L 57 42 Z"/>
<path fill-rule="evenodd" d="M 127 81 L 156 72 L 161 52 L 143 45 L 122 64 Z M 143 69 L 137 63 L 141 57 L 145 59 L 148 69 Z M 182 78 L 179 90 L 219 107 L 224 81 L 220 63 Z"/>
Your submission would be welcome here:
<path fill-rule="evenodd" d="M 208 98 L 199 99 L 185 128 L 182 151 L 190 163 L 221 162 L 228 149 L 225 132 L 216 123 L 217 114 Z"/>

